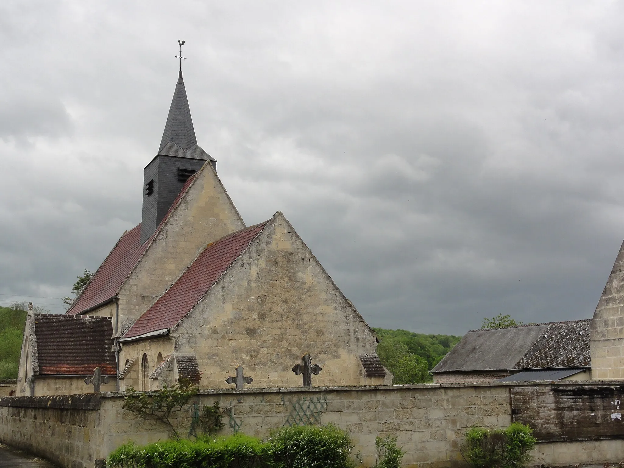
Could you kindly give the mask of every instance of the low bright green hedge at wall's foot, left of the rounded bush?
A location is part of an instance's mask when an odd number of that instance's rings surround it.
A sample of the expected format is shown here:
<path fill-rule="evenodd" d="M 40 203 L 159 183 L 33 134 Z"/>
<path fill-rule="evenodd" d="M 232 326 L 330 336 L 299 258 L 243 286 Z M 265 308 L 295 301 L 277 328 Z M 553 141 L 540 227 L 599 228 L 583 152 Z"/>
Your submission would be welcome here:
<path fill-rule="evenodd" d="M 109 468 L 263 468 L 270 447 L 254 437 L 235 434 L 213 441 L 165 441 L 147 446 L 132 442 L 109 455 Z"/>

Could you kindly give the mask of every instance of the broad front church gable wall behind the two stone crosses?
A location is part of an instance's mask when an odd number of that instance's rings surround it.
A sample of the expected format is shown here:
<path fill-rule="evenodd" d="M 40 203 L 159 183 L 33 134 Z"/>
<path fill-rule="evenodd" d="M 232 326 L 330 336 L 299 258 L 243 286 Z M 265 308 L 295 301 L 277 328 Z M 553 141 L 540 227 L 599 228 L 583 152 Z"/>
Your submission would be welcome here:
<path fill-rule="evenodd" d="M 310 353 L 313 386 L 364 383 L 359 354 L 376 337 L 278 213 L 172 331 L 175 351 L 195 352 L 203 388 L 227 388 L 242 364 L 252 388 L 301 386 L 291 370 Z"/>

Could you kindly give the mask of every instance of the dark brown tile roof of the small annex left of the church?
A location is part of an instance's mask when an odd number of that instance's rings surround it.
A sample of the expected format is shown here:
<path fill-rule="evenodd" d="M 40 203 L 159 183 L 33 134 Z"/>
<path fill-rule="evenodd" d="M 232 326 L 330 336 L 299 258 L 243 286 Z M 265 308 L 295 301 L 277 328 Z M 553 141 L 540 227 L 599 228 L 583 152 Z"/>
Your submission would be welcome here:
<path fill-rule="evenodd" d="M 110 317 L 34 314 L 34 324 L 39 374 L 117 375 Z"/>

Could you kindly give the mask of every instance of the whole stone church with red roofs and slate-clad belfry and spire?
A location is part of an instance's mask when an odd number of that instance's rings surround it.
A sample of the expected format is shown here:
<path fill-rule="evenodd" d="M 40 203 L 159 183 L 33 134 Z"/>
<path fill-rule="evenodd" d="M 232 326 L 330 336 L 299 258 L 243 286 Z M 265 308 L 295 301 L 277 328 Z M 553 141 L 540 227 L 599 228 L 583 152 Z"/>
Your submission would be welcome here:
<path fill-rule="evenodd" d="M 228 388 L 238 366 L 257 388 L 310 384 L 312 368 L 313 386 L 391 382 L 374 331 L 285 216 L 247 227 L 216 163 L 197 144 L 180 72 L 141 223 L 66 316 L 29 314 L 18 395 L 92 391 L 83 380 L 96 367 L 110 378 L 102 390 L 121 391 L 180 376 Z"/>

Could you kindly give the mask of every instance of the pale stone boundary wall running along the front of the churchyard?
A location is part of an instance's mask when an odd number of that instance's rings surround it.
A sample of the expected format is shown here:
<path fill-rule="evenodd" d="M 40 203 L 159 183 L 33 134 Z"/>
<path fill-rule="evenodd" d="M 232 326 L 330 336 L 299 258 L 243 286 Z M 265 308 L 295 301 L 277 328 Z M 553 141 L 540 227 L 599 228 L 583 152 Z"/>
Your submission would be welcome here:
<path fill-rule="evenodd" d="M 332 422 L 353 438 L 354 452 L 361 452 L 363 465 L 375 463 L 374 439 L 393 435 L 406 451 L 405 467 L 466 466 L 459 442 L 472 426 L 506 427 L 512 421 L 512 388 L 548 389 L 554 383 L 401 385 L 379 387 L 334 387 L 291 389 L 244 389 L 200 391 L 200 405 L 218 401 L 228 409 L 223 434 L 238 429 L 265 438 L 271 429 L 300 419 Z M 616 384 L 616 383 L 609 383 Z M 617 383 L 617 384 L 622 384 Z M 557 383 L 558 387 L 568 384 Z M 573 382 L 570 387 L 596 386 Z M 546 392 L 548 393 L 548 392 Z M 64 468 L 99 466 L 116 447 L 127 441 L 137 444 L 167 438 L 159 422 L 135 416 L 122 409 L 123 393 L 72 398 L 66 409 L 52 407 L 61 397 L 0 399 L 0 441 L 24 449 Z M 46 402 L 51 401 L 50 406 Z M 99 401 L 99 409 L 95 409 Z M 84 408 L 78 406 L 84 405 Z M 61 405 L 62 406 L 62 405 Z M 178 413 L 181 433 L 190 423 L 190 408 Z M 299 418 L 299 419 L 298 419 Z M 620 436 L 621 437 L 621 436 Z M 548 442 L 534 452 L 534 463 L 571 466 L 603 464 L 624 458 L 621 440 Z"/>

